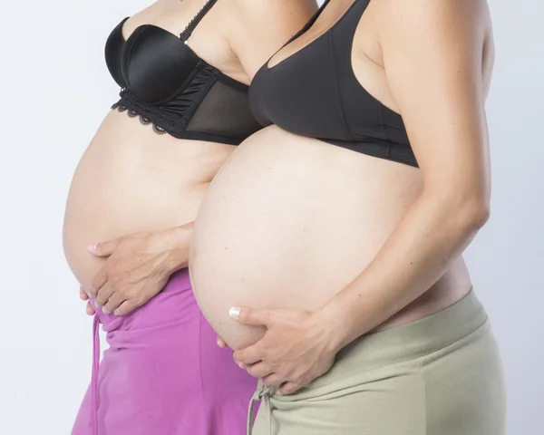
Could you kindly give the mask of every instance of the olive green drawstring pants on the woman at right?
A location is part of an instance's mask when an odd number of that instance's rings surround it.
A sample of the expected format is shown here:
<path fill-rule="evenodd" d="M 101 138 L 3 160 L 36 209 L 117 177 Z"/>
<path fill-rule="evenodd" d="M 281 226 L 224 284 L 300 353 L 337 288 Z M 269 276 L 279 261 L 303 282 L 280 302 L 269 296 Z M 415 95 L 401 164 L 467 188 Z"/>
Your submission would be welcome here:
<path fill-rule="evenodd" d="M 502 435 L 505 407 L 497 343 L 471 291 L 430 317 L 364 335 L 296 394 L 259 385 L 248 434 Z"/>

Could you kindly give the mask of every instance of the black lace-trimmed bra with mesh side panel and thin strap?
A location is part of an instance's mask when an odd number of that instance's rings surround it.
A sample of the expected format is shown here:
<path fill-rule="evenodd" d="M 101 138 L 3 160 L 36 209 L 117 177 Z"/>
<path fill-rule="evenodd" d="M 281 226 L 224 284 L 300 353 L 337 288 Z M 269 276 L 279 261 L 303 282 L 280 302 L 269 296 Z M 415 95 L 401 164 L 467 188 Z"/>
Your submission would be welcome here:
<path fill-rule="evenodd" d="M 157 133 L 179 139 L 238 145 L 261 126 L 249 109 L 248 85 L 231 79 L 199 58 L 190 34 L 217 0 L 209 0 L 180 37 L 152 24 L 139 26 L 125 41 L 122 26 L 106 43 L 106 63 L 121 86 L 112 109 L 140 116 Z"/>

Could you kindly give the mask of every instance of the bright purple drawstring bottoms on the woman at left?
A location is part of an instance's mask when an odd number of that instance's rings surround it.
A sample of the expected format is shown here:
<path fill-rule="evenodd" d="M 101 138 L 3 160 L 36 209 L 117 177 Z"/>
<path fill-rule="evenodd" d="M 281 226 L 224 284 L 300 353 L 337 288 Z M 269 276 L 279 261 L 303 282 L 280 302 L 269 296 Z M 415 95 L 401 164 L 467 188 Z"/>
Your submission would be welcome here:
<path fill-rule="evenodd" d="M 94 321 L 92 383 L 72 435 L 242 435 L 257 380 L 201 314 L 187 269 L 148 304 Z M 98 318 L 110 348 L 98 364 Z"/>

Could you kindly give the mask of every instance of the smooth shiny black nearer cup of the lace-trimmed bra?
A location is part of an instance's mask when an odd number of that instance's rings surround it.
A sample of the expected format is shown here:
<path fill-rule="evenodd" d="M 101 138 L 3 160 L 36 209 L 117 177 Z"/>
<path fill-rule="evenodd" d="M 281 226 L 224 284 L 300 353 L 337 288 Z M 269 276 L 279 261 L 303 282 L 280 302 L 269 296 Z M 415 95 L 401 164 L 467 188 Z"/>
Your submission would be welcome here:
<path fill-rule="evenodd" d="M 126 88 L 150 104 L 174 99 L 200 61 L 175 34 L 151 24 L 138 27 L 121 53 Z"/>

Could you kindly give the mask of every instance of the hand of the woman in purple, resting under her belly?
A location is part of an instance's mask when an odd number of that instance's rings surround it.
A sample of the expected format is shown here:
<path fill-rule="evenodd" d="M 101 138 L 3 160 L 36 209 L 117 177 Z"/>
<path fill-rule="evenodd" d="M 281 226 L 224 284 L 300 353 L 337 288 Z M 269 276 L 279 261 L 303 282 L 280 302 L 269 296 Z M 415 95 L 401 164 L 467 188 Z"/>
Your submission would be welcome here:
<path fill-rule="evenodd" d="M 138 233 L 90 247 L 95 256 L 107 257 L 88 290 L 96 306 L 104 314 L 124 315 L 146 304 L 173 272 L 186 266 L 188 228 L 182 236 Z"/>

